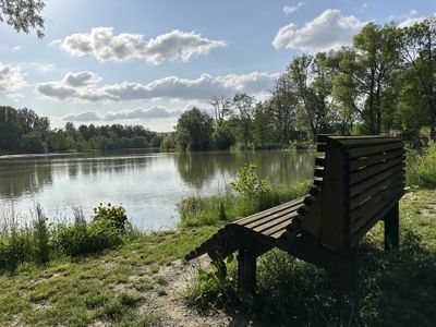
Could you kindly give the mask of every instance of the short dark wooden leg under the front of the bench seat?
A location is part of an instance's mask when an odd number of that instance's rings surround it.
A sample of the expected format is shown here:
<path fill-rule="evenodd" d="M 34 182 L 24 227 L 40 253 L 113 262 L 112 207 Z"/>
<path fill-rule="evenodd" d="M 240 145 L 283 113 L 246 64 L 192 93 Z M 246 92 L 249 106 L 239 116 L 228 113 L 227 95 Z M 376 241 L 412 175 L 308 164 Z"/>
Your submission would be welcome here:
<path fill-rule="evenodd" d="M 240 249 L 238 254 L 238 286 L 244 292 L 253 293 L 256 288 L 256 249 Z"/>

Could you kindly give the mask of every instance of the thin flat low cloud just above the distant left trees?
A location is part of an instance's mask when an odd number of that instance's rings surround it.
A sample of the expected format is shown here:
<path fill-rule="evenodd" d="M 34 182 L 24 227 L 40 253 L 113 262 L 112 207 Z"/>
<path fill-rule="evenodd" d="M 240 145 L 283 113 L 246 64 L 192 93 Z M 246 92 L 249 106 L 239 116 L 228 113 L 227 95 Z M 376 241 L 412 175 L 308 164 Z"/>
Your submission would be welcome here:
<path fill-rule="evenodd" d="M 70 113 L 62 118 L 64 121 L 89 122 L 89 121 L 119 121 L 119 120 L 142 120 L 164 119 L 179 117 L 182 110 L 168 110 L 162 106 L 154 106 L 148 109 L 136 108 L 132 110 L 119 110 L 107 113 L 94 111 Z"/>

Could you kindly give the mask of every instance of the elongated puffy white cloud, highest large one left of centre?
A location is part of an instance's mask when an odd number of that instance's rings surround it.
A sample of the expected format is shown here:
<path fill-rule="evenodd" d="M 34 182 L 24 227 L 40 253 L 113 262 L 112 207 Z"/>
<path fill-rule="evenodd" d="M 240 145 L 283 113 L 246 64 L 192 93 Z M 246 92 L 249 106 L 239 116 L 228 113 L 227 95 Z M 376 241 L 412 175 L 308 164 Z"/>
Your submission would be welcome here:
<path fill-rule="evenodd" d="M 179 29 L 144 40 L 141 34 L 113 34 L 111 27 L 92 28 L 90 33 L 77 33 L 65 37 L 61 49 L 72 56 L 92 56 L 99 61 L 141 59 L 153 64 L 164 61 L 189 61 L 199 55 L 226 46 L 222 40 L 210 40 L 194 32 Z"/>

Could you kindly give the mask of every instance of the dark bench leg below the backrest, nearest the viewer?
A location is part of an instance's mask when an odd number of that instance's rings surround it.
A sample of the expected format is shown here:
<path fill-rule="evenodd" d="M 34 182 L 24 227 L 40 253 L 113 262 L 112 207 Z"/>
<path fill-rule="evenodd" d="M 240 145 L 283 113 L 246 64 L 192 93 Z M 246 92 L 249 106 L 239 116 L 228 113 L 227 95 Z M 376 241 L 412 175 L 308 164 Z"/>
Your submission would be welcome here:
<path fill-rule="evenodd" d="M 343 270 L 335 275 L 339 326 L 362 326 L 359 302 L 359 245 L 349 254 Z"/>

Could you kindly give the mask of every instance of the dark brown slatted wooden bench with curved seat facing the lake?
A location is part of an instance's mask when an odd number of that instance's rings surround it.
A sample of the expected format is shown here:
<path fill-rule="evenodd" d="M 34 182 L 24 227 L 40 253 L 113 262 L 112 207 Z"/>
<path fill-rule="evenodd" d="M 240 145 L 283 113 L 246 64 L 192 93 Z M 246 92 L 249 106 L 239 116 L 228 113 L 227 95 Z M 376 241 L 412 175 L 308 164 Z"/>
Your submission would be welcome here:
<path fill-rule="evenodd" d="M 238 282 L 253 291 L 256 257 L 278 247 L 330 271 L 338 299 L 359 310 L 359 243 L 385 222 L 385 249 L 398 246 L 398 202 L 404 187 L 404 150 L 390 136 L 317 138 L 314 182 L 307 195 L 226 225 L 186 259 L 207 253 L 238 256 Z"/>

